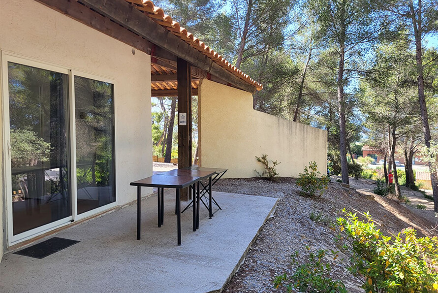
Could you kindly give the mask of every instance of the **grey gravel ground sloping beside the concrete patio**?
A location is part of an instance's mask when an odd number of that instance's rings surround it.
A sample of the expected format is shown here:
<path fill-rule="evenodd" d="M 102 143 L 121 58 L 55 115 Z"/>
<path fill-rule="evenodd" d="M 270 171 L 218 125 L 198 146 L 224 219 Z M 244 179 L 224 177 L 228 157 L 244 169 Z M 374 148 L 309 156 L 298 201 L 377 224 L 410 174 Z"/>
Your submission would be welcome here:
<path fill-rule="evenodd" d="M 293 274 L 296 267 L 290 262 L 294 252 L 299 253 L 299 263 L 304 263 L 310 252 L 319 249 L 338 251 L 334 244 L 335 232 L 325 223 L 310 220 L 312 211 L 322 213 L 328 221 L 340 216 L 344 207 L 357 212 L 370 211 L 385 234 L 414 227 L 421 236 L 430 234 L 433 226 L 393 199 L 357 192 L 337 182 L 331 182 L 321 198 L 299 195 L 293 178 L 281 178 L 277 183 L 262 178 L 221 179 L 214 190 L 280 199 L 274 217 L 263 226 L 245 262 L 223 292 L 286 292 L 282 287 L 274 289 L 273 280 L 284 273 Z M 362 293 L 358 280 L 346 270 L 347 259 L 348 256 L 340 253 L 338 260 L 332 260 L 332 277 L 342 280 L 347 292 Z"/>

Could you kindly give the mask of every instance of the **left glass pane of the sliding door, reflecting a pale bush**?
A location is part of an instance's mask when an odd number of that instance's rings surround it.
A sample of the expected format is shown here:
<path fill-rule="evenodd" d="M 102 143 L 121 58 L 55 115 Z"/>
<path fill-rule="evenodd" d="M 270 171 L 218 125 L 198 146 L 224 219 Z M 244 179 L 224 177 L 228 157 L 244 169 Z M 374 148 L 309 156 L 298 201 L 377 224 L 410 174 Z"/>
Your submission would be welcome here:
<path fill-rule="evenodd" d="M 8 62 L 14 235 L 71 216 L 67 80 Z"/>

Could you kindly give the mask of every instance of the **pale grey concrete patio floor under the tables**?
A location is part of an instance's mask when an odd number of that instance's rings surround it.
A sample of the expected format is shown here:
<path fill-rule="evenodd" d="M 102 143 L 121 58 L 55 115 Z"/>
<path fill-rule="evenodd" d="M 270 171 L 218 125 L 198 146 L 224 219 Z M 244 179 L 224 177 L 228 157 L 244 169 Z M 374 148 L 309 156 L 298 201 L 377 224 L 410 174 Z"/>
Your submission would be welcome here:
<path fill-rule="evenodd" d="M 192 210 L 182 214 L 181 246 L 174 191 L 165 193 L 161 228 L 153 195 L 142 200 L 141 240 L 136 240 L 132 204 L 57 233 L 81 242 L 44 259 L 6 254 L 0 263 L 0 292 L 219 292 L 277 199 L 216 192 L 213 196 L 222 210 L 210 220 L 201 203 L 196 232 Z M 182 207 L 186 204 L 183 201 Z"/>

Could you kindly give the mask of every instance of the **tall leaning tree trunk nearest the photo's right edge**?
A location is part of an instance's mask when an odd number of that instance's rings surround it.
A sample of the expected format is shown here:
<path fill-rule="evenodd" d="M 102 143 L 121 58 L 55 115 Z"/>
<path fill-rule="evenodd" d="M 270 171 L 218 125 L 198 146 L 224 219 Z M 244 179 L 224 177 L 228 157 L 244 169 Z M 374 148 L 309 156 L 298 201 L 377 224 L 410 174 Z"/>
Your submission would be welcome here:
<path fill-rule="evenodd" d="M 421 48 L 421 39 L 423 37 L 422 32 L 422 11 L 421 0 L 418 0 L 418 15 L 415 13 L 413 1 L 409 1 L 409 9 L 412 18 L 412 26 L 415 36 L 415 59 L 417 63 L 417 75 L 418 75 L 418 101 L 421 110 L 421 121 L 423 123 L 424 141 L 426 147 L 431 147 L 431 130 L 429 127 L 429 118 L 427 113 L 426 99 L 424 98 L 424 78 L 423 78 L 423 51 Z M 417 18 L 418 16 L 418 18 Z M 431 172 L 431 183 L 434 194 L 434 211 L 438 213 L 438 175 L 437 168 L 429 162 L 429 170 Z"/>

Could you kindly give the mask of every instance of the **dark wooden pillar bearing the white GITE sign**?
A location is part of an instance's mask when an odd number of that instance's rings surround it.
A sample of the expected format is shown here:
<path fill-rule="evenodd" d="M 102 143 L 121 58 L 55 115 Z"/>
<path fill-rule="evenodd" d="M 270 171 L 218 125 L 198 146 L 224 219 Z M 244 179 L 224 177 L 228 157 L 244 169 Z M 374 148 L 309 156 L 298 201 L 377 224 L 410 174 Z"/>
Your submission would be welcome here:
<path fill-rule="evenodd" d="M 191 72 L 190 64 L 178 58 L 178 168 L 189 167 L 191 160 Z M 182 125 L 182 114 L 186 113 L 186 125 Z M 188 199 L 188 189 L 181 193 Z"/>

